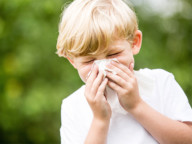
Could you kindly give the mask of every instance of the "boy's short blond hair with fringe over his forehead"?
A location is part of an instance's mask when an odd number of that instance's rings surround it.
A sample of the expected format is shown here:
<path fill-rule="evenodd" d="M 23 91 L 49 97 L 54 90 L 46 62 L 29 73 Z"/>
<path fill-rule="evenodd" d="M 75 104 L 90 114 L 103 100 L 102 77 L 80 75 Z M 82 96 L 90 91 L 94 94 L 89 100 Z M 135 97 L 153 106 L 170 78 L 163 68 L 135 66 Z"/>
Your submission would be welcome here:
<path fill-rule="evenodd" d="M 136 15 L 123 0 L 74 0 L 62 13 L 57 54 L 98 54 L 115 39 L 132 41 L 137 29 Z"/>

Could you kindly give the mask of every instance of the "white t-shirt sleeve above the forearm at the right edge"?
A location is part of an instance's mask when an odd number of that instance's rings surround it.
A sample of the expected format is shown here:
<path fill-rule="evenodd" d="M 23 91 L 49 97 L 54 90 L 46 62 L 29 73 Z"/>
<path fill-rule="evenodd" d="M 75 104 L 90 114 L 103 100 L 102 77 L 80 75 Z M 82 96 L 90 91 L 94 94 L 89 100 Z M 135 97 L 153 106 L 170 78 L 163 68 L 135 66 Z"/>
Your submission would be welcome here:
<path fill-rule="evenodd" d="M 192 109 L 182 88 L 174 76 L 169 74 L 165 82 L 165 115 L 178 121 L 192 122 Z"/>

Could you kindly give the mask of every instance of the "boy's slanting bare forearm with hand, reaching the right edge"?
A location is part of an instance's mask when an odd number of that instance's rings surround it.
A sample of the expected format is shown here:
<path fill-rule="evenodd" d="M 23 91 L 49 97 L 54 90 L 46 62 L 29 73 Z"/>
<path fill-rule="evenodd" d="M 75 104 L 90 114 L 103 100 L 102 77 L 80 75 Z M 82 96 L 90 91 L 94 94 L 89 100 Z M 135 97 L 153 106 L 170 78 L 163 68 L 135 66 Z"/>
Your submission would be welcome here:
<path fill-rule="evenodd" d="M 109 67 L 117 72 L 117 75 L 108 73 L 107 77 L 108 85 L 118 93 L 120 104 L 159 143 L 192 143 L 192 124 L 172 120 L 145 103 L 139 96 L 137 80 L 127 67 L 118 63 Z"/>

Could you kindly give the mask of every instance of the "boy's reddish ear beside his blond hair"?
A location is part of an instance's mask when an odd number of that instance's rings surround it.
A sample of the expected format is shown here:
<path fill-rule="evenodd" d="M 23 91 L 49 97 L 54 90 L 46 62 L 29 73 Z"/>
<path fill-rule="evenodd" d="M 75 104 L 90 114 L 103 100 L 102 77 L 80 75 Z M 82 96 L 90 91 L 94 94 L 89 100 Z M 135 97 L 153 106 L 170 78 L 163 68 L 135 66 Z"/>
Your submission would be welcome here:
<path fill-rule="evenodd" d="M 133 55 L 136 55 L 139 53 L 141 48 L 141 43 L 142 43 L 142 32 L 140 30 L 136 30 L 135 37 L 133 39 L 133 44 L 132 44 Z"/>

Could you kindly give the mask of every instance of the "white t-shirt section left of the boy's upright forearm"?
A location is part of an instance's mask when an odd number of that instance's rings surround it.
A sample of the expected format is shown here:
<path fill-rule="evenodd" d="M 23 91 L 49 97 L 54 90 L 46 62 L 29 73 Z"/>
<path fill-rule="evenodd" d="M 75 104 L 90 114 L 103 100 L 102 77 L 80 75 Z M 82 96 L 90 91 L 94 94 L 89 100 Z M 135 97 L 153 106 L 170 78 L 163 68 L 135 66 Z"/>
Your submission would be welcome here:
<path fill-rule="evenodd" d="M 82 86 L 62 101 L 61 143 L 83 143 L 92 119 L 92 112 L 84 96 Z"/>

